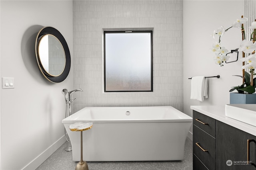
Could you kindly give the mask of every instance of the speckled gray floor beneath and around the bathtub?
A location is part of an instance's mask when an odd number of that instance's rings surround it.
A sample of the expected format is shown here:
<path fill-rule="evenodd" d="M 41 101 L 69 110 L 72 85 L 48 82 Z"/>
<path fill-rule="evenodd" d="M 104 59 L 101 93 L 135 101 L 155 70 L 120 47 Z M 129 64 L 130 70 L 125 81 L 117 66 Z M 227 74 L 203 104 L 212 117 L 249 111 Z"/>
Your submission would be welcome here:
<path fill-rule="evenodd" d="M 74 170 L 77 162 L 72 151 L 66 152 L 67 142 L 56 150 L 36 170 Z M 192 170 L 192 141 L 187 137 L 182 161 L 87 162 L 89 170 Z"/>

